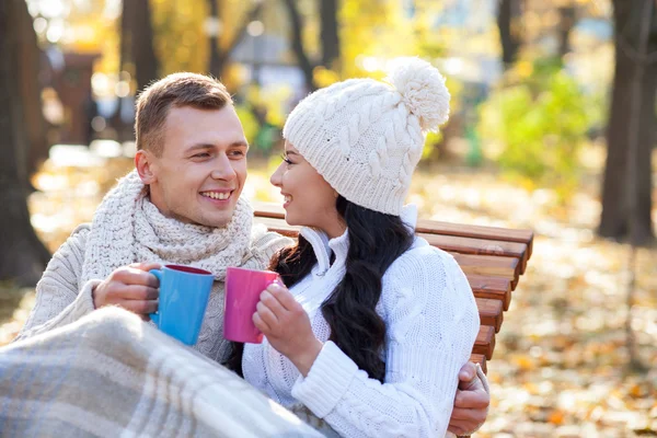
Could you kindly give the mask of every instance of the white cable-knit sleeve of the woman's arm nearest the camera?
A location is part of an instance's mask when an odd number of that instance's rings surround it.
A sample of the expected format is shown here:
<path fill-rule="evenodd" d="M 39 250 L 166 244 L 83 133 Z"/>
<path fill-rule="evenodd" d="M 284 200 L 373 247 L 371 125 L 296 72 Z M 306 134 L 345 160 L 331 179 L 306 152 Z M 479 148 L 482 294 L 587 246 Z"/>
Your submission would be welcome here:
<path fill-rule="evenodd" d="M 292 395 L 341 436 L 442 437 L 458 373 L 480 326 L 465 276 L 447 253 L 420 247 L 384 276 L 385 378 L 381 383 L 334 343 L 324 344 Z M 404 260 L 405 258 L 405 260 Z"/>

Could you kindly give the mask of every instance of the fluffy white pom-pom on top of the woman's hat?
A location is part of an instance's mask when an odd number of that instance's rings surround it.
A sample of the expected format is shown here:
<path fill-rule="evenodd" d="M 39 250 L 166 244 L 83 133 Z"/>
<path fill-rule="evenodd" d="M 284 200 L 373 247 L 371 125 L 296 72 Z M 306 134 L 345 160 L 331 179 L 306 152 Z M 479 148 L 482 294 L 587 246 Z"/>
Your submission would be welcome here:
<path fill-rule="evenodd" d="M 450 95 L 445 78 L 429 62 L 415 57 L 396 58 L 385 80 L 419 119 L 423 131 L 435 131 L 449 118 Z"/>

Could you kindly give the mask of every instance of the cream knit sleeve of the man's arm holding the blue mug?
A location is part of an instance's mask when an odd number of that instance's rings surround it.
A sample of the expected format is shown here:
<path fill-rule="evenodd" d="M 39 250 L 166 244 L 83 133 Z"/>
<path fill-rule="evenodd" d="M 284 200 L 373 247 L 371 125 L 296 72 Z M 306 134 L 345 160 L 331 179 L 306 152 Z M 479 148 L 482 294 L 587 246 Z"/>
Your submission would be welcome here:
<path fill-rule="evenodd" d="M 101 280 L 79 287 L 89 227 L 79 227 L 57 250 L 36 285 L 36 302 L 15 341 L 77 321 L 94 310 L 92 289 Z"/>

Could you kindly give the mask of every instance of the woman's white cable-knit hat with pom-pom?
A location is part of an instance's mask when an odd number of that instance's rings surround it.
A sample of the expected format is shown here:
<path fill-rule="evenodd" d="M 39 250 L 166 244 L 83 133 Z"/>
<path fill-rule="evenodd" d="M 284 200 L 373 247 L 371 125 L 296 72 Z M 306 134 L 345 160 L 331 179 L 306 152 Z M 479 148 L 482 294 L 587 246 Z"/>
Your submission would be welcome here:
<path fill-rule="evenodd" d="M 399 216 L 426 132 L 449 117 L 445 78 L 419 58 L 396 58 L 385 82 L 349 79 L 318 90 L 283 136 L 337 193 Z"/>

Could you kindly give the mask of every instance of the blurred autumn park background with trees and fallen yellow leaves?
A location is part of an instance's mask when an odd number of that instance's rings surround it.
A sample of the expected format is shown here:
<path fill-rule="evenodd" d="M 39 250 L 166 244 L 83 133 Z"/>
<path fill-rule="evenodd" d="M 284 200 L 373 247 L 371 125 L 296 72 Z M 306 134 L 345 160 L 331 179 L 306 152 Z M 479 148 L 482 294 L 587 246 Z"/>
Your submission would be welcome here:
<path fill-rule="evenodd" d="M 479 437 L 657 436 L 656 0 L 2 0 L 0 344 L 45 264 L 132 166 L 134 103 L 220 78 L 268 175 L 310 91 L 395 56 L 448 78 L 420 216 L 530 228 Z"/>

